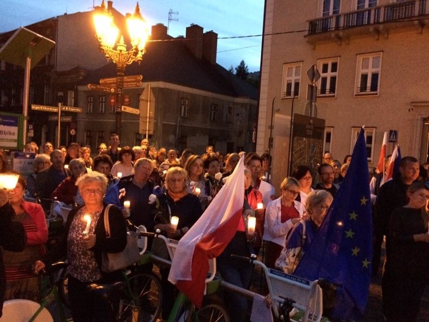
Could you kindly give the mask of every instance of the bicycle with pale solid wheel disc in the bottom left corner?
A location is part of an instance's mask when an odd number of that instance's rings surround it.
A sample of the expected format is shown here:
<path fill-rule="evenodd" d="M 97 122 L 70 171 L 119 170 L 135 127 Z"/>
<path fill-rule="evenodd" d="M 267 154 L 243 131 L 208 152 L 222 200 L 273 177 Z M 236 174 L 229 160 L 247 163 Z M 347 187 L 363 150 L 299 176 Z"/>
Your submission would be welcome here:
<path fill-rule="evenodd" d="M 29 321 L 29 322 L 53 322 L 53 318 L 46 306 L 55 301 L 56 307 L 59 312 L 61 322 L 66 322 L 64 309 L 58 292 L 58 281 L 55 280 L 55 272 L 64 269 L 66 264 L 58 262 L 52 265 L 52 272 L 50 274 L 42 271 L 44 276 L 47 276 L 47 288 L 41 291 L 42 299 L 40 303 L 25 299 L 14 299 L 5 301 L 3 307 L 2 322 L 13 321 Z"/>

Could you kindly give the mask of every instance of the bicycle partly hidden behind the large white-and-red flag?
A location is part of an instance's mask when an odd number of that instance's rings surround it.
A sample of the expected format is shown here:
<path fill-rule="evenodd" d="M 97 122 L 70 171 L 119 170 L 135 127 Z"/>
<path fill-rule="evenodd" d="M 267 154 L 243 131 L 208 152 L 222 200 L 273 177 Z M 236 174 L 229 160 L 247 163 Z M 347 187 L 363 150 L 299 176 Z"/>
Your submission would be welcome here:
<path fill-rule="evenodd" d="M 173 260 L 174 253 L 177 247 L 177 240 L 169 239 L 160 234 L 161 231 L 157 232 L 142 232 L 140 235 L 146 237 L 160 238 L 164 241 L 167 246 L 167 250 L 170 259 Z M 171 266 L 171 261 L 164 259 L 156 254 L 151 254 L 151 259 L 158 264 L 165 264 Z M 206 296 L 204 297 L 203 305 L 200 309 L 190 302 L 190 300 L 183 293 L 179 293 L 174 302 L 172 311 L 169 315 L 169 322 L 191 322 L 191 321 L 204 321 L 204 322 L 229 322 L 230 317 L 225 306 L 218 300 L 212 299 L 207 295 L 214 294 L 217 292 L 220 280 L 216 277 L 216 259 L 209 261 L 210 269 L 206 282 Z"/>

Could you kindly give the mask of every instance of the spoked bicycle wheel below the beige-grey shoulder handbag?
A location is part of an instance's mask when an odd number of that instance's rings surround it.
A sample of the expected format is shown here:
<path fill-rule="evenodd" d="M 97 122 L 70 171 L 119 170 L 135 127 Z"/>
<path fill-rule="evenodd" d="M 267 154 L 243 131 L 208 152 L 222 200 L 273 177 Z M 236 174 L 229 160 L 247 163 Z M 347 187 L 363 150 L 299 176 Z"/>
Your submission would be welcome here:
<path fill-rule="evenodd" d="M 161 283 L 153 274 L 138 273 L 128 278 L 132 294 L 125 289 L 118 309 L 120 322 L 155 322 L 161 312 Z M 138 304 L 136 302 L 138 301 Z"/>

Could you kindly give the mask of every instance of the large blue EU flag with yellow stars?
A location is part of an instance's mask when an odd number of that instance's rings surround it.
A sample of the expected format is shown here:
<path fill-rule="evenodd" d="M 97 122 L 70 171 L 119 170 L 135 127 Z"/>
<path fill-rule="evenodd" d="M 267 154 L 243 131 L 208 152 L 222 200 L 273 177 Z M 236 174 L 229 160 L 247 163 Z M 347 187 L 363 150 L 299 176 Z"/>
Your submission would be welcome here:
<path fill-rule="evenodd" d="M 359 320 L 368 301 L 372 217 L 364 128 L 338 194 L 294 275 L 339 283 L 333 316 Z"/>

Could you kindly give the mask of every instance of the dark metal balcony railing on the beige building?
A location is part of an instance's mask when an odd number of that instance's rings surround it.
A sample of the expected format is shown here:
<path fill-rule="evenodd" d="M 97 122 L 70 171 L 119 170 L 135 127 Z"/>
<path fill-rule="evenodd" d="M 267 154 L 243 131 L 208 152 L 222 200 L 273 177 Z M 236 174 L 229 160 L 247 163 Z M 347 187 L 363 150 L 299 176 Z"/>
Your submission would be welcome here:
<path fill-rule="evenodd" d="M 429 14 L 427 0 L 388 4 L 309 21 L 308 34 L 395 22 Z"/>

